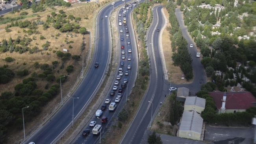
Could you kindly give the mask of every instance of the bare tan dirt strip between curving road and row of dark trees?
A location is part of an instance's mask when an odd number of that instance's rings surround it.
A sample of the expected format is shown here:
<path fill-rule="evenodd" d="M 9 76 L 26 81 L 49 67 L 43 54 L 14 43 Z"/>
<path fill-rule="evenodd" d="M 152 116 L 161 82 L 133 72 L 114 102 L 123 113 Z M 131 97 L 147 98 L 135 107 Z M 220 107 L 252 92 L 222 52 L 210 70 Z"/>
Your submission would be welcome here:
<path fill-rule="evenodd" d="M 167 9 L 163 8 L 163 12 L 164 12 L 167 20 L 169 20 L 169 13 L 168 13 Z M 171 40 L 170 40 L 171 34 L 169 33 L 168 27 L 171 27 L 171 24 L 169 22 L 167 22 L 167 25 L 166 25 L 165 30 L 163 31 L 163 35 L 162 35 L 163 54 L 165 56 L 166 68 L 168 71 L 168 79 L 171 82 L 171 77 L 172 77 L 172 83 L 175 83 L 175 84 L 192 83 L 192 81 L 193 81 L 192 79 L 189 81 L 187 81 L 186 79 L 181 79 L 182 77 L 184 77 L 184 76 L 182 76 L 182 75 L 184 75 L 184 73 L 180 69 L 180 66 L 173 65 L 173 59 L 171 58 L 173 56 L 173 52 L 172 52 L 172 48 L 171 48 Z M 171 74 L 173 76 L 171 76 Z"/>

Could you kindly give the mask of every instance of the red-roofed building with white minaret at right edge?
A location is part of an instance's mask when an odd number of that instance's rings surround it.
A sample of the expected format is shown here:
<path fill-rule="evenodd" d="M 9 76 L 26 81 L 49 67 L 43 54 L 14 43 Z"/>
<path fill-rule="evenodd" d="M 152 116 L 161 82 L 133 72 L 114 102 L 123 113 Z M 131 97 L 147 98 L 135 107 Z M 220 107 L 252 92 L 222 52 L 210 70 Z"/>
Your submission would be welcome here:
<path fill-rule="evenodd" d="M 217 113 L 236 113 L 256 106 L 256 98 L 250 92 L 209 92 L 215 101 Z"/>

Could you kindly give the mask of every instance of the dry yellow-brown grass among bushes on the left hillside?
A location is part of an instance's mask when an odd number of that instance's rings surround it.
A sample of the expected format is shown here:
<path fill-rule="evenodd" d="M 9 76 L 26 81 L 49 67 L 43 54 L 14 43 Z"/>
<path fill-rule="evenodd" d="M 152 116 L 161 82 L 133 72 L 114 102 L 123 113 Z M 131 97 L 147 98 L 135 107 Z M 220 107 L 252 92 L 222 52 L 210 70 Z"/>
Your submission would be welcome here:
<path fill-rule="evenodd" d="M 82 9 L 82 7 L 86 7 L 84 9 L 87 9 L 89 7 L 87 5 L 89 5 L 89 4 L 92 5 L 93 3 L 72 5 L 72 7 L 69 7 L 69 8 L 55 7 L 55 10 L 47 8 L 45 11 L 43 11 L 41 13 L 38 13 L 38 14 L 41 16 L 41 20 L 45 21 L 46 16 L 50 15 L 50 13 L 52 11 L 55 11 L 56 13 L 58 13 L 59 9 L 63 9 L 64 11 L 66 11 L 66 10 L 68 11 L 69 9 L 71 10 L 71 8 L 73 8 L 72 13 L 74 13 L 74 17 L 79 17 L 76 14 L 80 13 L 80 10 Z M 76 9 L 77 6 L 79 6 L 80 9 Z M 93 7 L 93 9 L 94 9 L 94 7 Z M 25 11 L 28 12 L 28 15 L 26 16 L 27 18 L 22 19 L 22 21 L 29 20 L 30 22 L 32 22 L 34 20 L 35 21 L 37 20 L 37 17 L 32 15 L 33 13 L 32 13 L 31 9 L 27 9 Z M 87 13 L 87 12 L 85 11 L 84 13 Z M 69 15 L 68 13 L 66 13 L 66 14 Z M 9 13 L 5 16 L 15 17 L 17 15 L 19 15 L 19 13 L 15 13 L 13 15 Z M 92 14 L 88 13 L 88 17 L 92 18 Z M 83 19 L 83 17 L 81 17 L 81 18 Z M 74 20 L 72 22 L 74 22 Z M 85 21 L 84 20 L 80 21 L 80 24 L 82 26 L 83 26 L 83 22 L 85 22 Z M 6 25 L 7 24 L 0 25 L 0 28 L 5 28 Z M 90 25 L 87 25 L 87 26 L 90 26 Z M 18 36 L 21 36 L 21 39 L 22 39 L 25 34 L 28 35 L 27 33 L 23 33 L 22 29 L 19 28 L 19 27 L 13 27 L 13 28 L 10 28 L 10 29 L 12 30 L 10 33 L 6 33 L 4 30 L 2 30 L 1 31 L 2 33 L 0 33 L 0 38 L 4 38 L 8 41 L 9 37 L 12 37 L 12 39 L 15 40 Z M 87 28 L 87 31 L 89 29 L 90 28 Z M 91 29 L 92 29 L 92 27 L 91 27 Z M 17 33 L 18 30 L 20 31 L 20 33 Z M 26 30 L 28 30 L 28 29 L 26 29 Z M 82 69 L 82 60 L 81 61 L 74 61 L 70 58 L 69 61 L 65 62 L 65 64 L 64 64 L 65 67 L 63 69 L 59 70 L 59 73 L 57 73 L 56 71 L 59 69 L 59 66 L 61 65 L 62 61 L 59 57 L 57 57 L 56 53 L 53 53 L 53 50 L 56 50 L 56 51 L 61 50 L 62 51 L 63 48 L 65 48 L 72 55 L 80 55 L 81 59 L 82 59 L 80 44 L 82 43 L 82 41 L 84 41 L 84 42 L 86 42 L 85 50 L 84 50 L 84 52 L 85 52 L 84 59 L 86 59 L 86 56 L 87 56 L 86 51 L 89 52 L 90 35 L 84 35 L 85 39 L 82 40 L 83 35 L 76 34 L 77 37 L 74 37 L 74 33 L 69 32 L 69 33 L 72 33 L 73 37 L 71 38 L 70 35 L 69 35 L 69 37 L 67 37 L 67 41 L 73 41 L 74 43 L 66 44 L 66 42 L 64 41 L 65 38 L 66 38 L 66 33 L 59 32 L 58 30 L 52 28 L 51 25 L 49 25 L 49 28 L 45 31 L 43 30 L 42 25 L 39 25 L 37 30 L 40 31 L 41 34 L 37 34 L 37 35 L 32 34 L 32 35 L 28 36 L 31 39 L 32 39 L 33 36 L 36 37 L 36 40 L 31 41 L 30 44 L 28 45 L 28 47 L 32 48 L 33 46 L 38 46 L 39 50 L 38 50 L 37 53 L 34 53 L 34 54 L 29 54 L 29 52 L 25 52 L 23 54 L 19 54 L 19 53 L 16 53 L 16 52 L 0 53 L 1 59 L 4 59 L 5 57 L 8 57 L 8 56 L 10 56 L 14 59 L 14 61 L 11 62 L 11 63 L 6 63 L 5 61 L 0 61 L 1 66 L 2 65 L 8 65 L 8 68 L 13 70 L 15 72 L 15 74 L 18 70 L 23 70 L 23 69 L 28 69 L 28 72 L 29 72 L 28 76 L 25 76 L 25 77 L 22 77 L 22 78 L 20 78 L 18 76 L 15 76 L 9 83 L 7 83 L 5 85 L 0 85 L 0 93 L 4 92 L 4 91 L 11 91 L 11 92 L 14 93 L 15 92 L 14 86 L 17 83 L 22 83 L 22 79 L 29 77 L 32 72 L 37 72 L 37 73 L 43 72 L 43 70 L 35 69 L 33 67 L 33 63 L 35 61 L 39 62 L 39 64 L 48 63 L 50 65 L 50 67 L 52 67 L 52 61 L 58 61 L 59 63 L 57 65 L 57 67 L 52 71 L 52 74 L 54 74 L 56 77 L 58 77 L 60 74 L 66 74 L 67 75 L 67 72 L 65 70 L 66 67 L 68 65 L 73 65 L 74 66 L 74 72 L 70 73 L 70 75 L 69 75 L 67 81 L 65 81 L 65 83 L 62 83 L 63 87 L 65 87 L 65 88 L 62 89 L 63 99 L 65 100 L 65 98 L 67 98 L 67 94 L 70 92 L 70 90 L 74 89 L 74 87 L 76 85 L 75 83 L 78 82 L 77 79 L 79 78 L 79 76 L 81 74 L 81 69 Z M 54 35 L 54 37 L 55 37 L 55 35 L 57 33 L 60 33 L 60 36 L 58 37 L 58 39 L 54 39 L 54 38 L 51 37 L 51 34 Z M 43 35 L 46 39 L 40 40 L 39 39 L 40 35 Z M 48 47 L 48 49 L 52 48 L 51 51 L 48 51 L 48 50 L 43 51 L 43 48 L 42 48 L 41 45 L 45 44 L 46 41 L 50 42 L 50 46 Z M 38 45 L 36 43 L 38 43 Z M 64 44 L 64 46 L 60 47 L 60 44 Z M 73 48 L 71 48 L 71 49 L 68 48 L 69 45 L 71 45 Z M 41 52 L 43 54 L 41 54 Z M 48 52 L 49 55 L 46 55 L 47 52 Z M 26 63 L 26 65 L 23 65 L 24 62 Z M 84 63 L 84 66 L 86 66 L 86 65 L 87 65 L 87 63 Z M 46 80 L 36 79 L 35 83 L 37 84 L 37 89 L 42 89 L 45 92 L 45 91 L 47 91 L 46 89 L 44 89 L 46 83 L 49 83 L 49 85 L 52 85 L 56 82 L 53 81 L 52 83 L 50 83 Z M 39 115 L 32 118 L 32 121 L 27 122 L 25 124 L 25 127 L 26 127 L 25 130 L 26 130 L 26 135 L 27 136 L 29 134 L 31 134 L 40 124 L 42 124 L 42 122 L 53 111 L 55 111 L 55 109 L 58 107 L 59 102 L 61 102 L 60 92 L 57 94 L 57 96 L 55 96 L 55 98 L 53 98 L 45 106 L 41 107 L 41 113 Z M 27 119 L 26 116 L 25 116 L 25 119 Z M 23 136 L 23 133 L 21 132 L 20 129 L 17 129 L 17 127 L 14 124 L 13 124 L 13 126 L 8 127 L 8 129 L 9 129 L 9 133 L 7 133 L 7 136 L 6 136 L 6 140 L 7 140 L 7 142 L 5 142 L 6 144 L 13 144 L 13 143 L 16 143 L 16 142 L 19 142 L 20 140 L 22 140 L 21 138 Z"/>

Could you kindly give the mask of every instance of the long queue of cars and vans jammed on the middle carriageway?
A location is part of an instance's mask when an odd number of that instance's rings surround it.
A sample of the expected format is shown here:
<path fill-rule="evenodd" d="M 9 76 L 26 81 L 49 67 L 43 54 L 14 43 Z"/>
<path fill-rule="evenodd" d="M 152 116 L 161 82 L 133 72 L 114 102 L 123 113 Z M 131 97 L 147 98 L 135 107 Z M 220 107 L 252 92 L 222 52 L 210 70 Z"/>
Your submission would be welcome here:
<path fill-rule="evenodd" d="M 114 5 L 115 2 L 112 3 L 112 5 Z M 132 6 L 132 4 L 130 4 L 130 7 Z M 126 4 L 126 6 L 129 9 L 129 6 Z M 124 8 L 125 8 L 124 7 Z M 126 9 L 127 9 L 126 8 Z M 127 9 L 127 10 L 128 10 Z M 122 10 L 122 9 L 121 9 Z M 123 23 L 124 26 L 126 26 L 126 12 L 127 10 L 123 11 L 123 15 L 120 13 L 119 17 L 123 16 Z M 108 17 L 107 15 L 105 17 Z M 122 26 L 122 24 L 120 25 L 120 22 L 122 21 L 122 19 L 119 19 L 119 26 Z M 129 31 L 128 28 L 125 28 L 125 33 L 123 34 L 124 36 L 126 36 L 126 38 L 128 38 L 129 35 Z M 120 30 L 120 33 L 122 33 L 123 30 Z M 121 38 L 121 41 L 124 41 L 124 38 Z M 127 41 L 127 44 L 130 44 L 130 41 Z M 131 57 L 132 57 L 132 49 L 128 48 L 129 46 L 125 46 L 126 42 L 123 42 L 121 44 L 121 66 L 124 66 L 124 61 L 126 61 L 126 63 L 131 61 Z M 125 49 L 126 48 L 126 49 Z M 127 52 L 128 51 L 128 52 Z M 127 55 L 127 57 L 126 57 Z M 100 64 L 98 62 L 95 63 L 95 68 L 97 68 L 98 66 L 100 66 Z M 114 81 L 114 85 L 112 87 L 112 90 L 109 93 L 109 97 L 112 96 L 116 96 L 114 97 L 114 102 L 111 102 L 112 98 L 107 98 L 104 102 L 104 104 L 101 106 L 100 109 L 98 109 L 95 113 L 95 116 L 101 120 L 101 122 L 107 122 L 108 118 L 106 116 L 103 116 L 102 118 L 99 118 L 100 116 L 102 116 L 103 111 L 106 110 L 108 108 L 109 111 L 114 111 L 115 108 L 117 107 L 117 103 L 119 103 L 121 101 L 121 98 L 123 96 L 122 92 L 124 91 L 124 88 L 126 88 L 126 85 L 128 83 L 128 79 L 127 78 L 123 78 L 123 76 L 128 76 L 129 75 L 129 71 L 131 69 L 131 65 L 128 63 L 127 64 L 127 70 L 123 71 L 123 67 L 120 67 L 118 70 L 118 75 L 116 78 L 116 81 Z M 100 133 L 100 131 L 102 130 L 102 126 L 100 124 L 96 124 L 96 121 L 91 121 L 91 123 L 89 124 L 90 127 L 93 127 L 93 135 L 98 135 Z M 86 136 L 89 135 L 90 133 L 90 129 L 84 129 L 82 135 Z"/>

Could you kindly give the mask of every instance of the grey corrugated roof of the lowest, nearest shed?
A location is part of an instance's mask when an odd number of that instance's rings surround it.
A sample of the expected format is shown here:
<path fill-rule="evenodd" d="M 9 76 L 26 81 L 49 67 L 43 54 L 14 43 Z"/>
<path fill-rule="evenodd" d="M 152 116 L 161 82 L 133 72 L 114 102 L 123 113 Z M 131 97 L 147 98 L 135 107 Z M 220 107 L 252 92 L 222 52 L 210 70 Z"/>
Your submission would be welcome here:
<path fill-rule="evenodd" d="M 180 131 L 202 132 L 203 119 L 197 111 L 184 111 L 180 123 Z"/>

